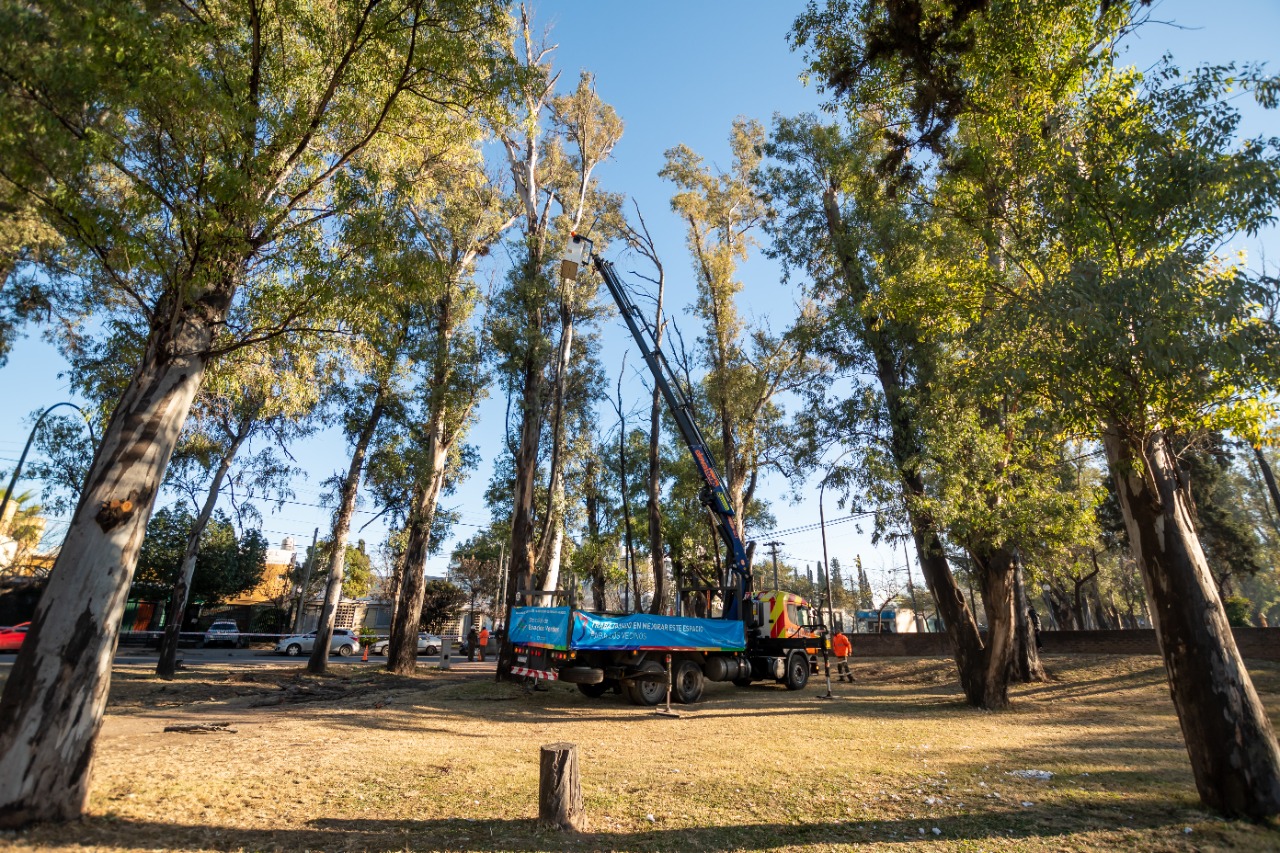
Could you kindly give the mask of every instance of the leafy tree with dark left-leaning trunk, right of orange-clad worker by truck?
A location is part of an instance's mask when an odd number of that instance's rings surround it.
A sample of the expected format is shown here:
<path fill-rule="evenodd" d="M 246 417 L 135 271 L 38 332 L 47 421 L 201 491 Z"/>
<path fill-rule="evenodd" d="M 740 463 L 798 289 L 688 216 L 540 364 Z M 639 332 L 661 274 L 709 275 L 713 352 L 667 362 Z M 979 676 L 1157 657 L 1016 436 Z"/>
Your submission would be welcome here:
<path fill-rule="evenodd" d="M 858 451 L 860 465 L 836 466 L 836 480 L 856 483 L 874 503 L 904 507 L 961 688 L 970 703 L 982 704 L 987 653 L 947 562 L 925 480 L 922 412 L 936 387 L 940 341 L 924 328 L 929 314 L 899 311 L 887 298 L 929 292 L 933 270 L 919 234 L 933 224 L 927 209 L 876 178 L 879 140 L 874 114 L 850 119 L 847 129 L 814 117 L 777 120 L 763 173 L 778 210 L 771 251 L 809 279 L 813 306 L 797 333 L 850 382 L 833 396 L 826 386 L 810 391 L 804 432 L 819 452 Z"/>

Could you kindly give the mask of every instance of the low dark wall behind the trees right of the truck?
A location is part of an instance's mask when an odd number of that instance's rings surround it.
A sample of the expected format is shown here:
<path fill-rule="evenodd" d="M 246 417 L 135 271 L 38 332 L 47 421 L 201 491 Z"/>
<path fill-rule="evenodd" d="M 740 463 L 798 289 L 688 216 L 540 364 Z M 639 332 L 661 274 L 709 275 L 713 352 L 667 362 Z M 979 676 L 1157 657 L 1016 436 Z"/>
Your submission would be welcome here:
<path fill-rule="evenodd" d="M 1280 661 L 1280 628 L 1235 628 L 1240 654 Z M 854 657 L 950 656 L 946 634 L 854 634 Z M 1041 631 L 1044 654 L 1158 654 L 1156 631 Z"/>

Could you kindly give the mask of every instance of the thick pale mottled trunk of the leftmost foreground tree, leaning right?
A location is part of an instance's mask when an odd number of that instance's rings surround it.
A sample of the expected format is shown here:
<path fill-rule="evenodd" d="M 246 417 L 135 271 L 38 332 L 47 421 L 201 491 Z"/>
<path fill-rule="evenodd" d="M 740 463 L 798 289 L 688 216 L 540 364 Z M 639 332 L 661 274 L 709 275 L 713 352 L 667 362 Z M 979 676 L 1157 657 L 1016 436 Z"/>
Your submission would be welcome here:
<path fill-rule="evenodd" d="M 79 817 L 147 519 L 230 292 L 164 323 L 120 397 L 0 695 L 0 827 Z"/>

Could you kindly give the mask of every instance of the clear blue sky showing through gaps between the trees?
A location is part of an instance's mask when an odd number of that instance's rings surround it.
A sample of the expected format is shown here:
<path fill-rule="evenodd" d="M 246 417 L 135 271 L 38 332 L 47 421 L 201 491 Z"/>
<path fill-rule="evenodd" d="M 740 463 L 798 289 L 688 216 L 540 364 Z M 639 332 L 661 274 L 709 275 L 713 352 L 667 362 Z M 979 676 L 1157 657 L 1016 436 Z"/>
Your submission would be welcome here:
<path fill-rule="evenodd" d="M 819 108 L 820 96 L 800 82 L 803 58 L 786 44 L 787 29 L 803 8 L 803 3 L 781 0 L 543 0 L 532 5 L 536 26 L 550 27 L 548 41 L 558 45 L 554 61 L 562 70 L 561 88 L 572 88 L 579 72 L 590 70 L 600 97 L 625 123 L 623 137 L 612 160 L 599 169 L 598 179 L 605 190 L 626 193 L 628 206 L 631 200 L 639 205 L 667 270 L 671 319 L 689 341 L 700 324 L 687 311 L 694 301 L 694 282 L 684 228 L 669 210 L 672 187 L 658 178 L 663 152 L 685 143 L 708 164 L 728 168 L 728 133 L 736 117 L 755 118 L 768 126 L 774 114 L 794 115 Z M 1167 51 L 1183 67 L 1267 61 L 1272 73 L 1280 73 L 1275 47 L 1280 0 L 1164 0 L 1155 4 L 1152 18 L 1153 23 L 1140 28 L 1128 44 L 1129 60 L 1139 68 L 1149 67 Z M 1247 136 L 1280 136 L 1280 113 L 1260 110 L 1252 102 L 1242 101 L 1240 106 Z M 1274 234 L 1261 245 L 1254 241 L 1242 247 L 1251 251 L 1251 260 L 1267 248 L 1270 257 L 1280 256 L 1280 241 Z M 626 277 L 630 259 L 614 260 Z M 777 266 L 756 251 L 742 266 L 741 280 L 744 315 L 750 321 L 769 323 L 774 330 L 785 328 L 795 313 L 795 296 L 781 283 Z M 616 328 L 608 328 L 609 323 Z M 607 320 L 602 337 L 602 359 L 611 387 L 617 380 L 623 352 L 630 350 L 627 364 L 632 377 L 625 388 L 631 391 L 625 393 L 631 400 L 626 403 L 637 411 L 643 407 L 646 421 L 648 397 L 634 374 L 640 362 L 621 321 Z M 0 369 L 0 401 L 5 403 L 0 407 L 0 470 L 12 470 L 36 412 L 64 400 L 76 402 L 68 380 L 60 375 L 64 369 L 61 356 L 38 334 L 19 342 L 9 364 Z M 493 471 L 493 451 L 503 438 L 500 394 L 490 397 L 479 415 L 471 441 L 481 451 L 481 462 L 456 494 L 442 501 L 442 506 L 460 514 L 454 529 L 458 539 L 488 524 L 483 493 Z M 616 424 L 616 415 L 607 405 L 599 421 L 604 429 Z M 279 507 L 259 505 L 262 529 L 273 546 L 292 535 L 301 547 L 317 526 L 320 535 L 325 535 L 330 510 L 320 505 L 320 484 L 348 462 L 348 451 L 334 430 L 293 447 L 292 452 L 307 471 L 294 483 L 296 497 Z M 23 485 L 38 488 L 36 483 Z M 800 491 L 804 500 L 790 502 L 787 496 L 792 491 Z M 777 528 L 758 538 L 782 542 L 780 555 L 788 562 L 808 567 L 820 561 L 822 540 L 814 524 L 818 479 L 794 484 L 774 475 L 763 480 L 759 494 L 771 500 Z M 841 521 L 844 514 L 835 498 L 828 493 L 824 501 L 831 557 L 849 566 L 855 556 L 861 556 L 873 579 L 887 578 L 895 567 L 905 565 L 901 547 L 893 551 L 887 543 L 873 544 L 869 528 Z M 385 535 L 385 526 L 374 520 L 367 529 L 358 529 L 371 519 L 372 512 L 364 507 L 356 516 L 352 538 L 365 538 L 375 547 Z M 51 524 L 54 533 L 64 529 L 58 520 Z M 444 574 L 448 552 L 449 547 L 428 561 L 429 575 Z M 914 553 L 911 564 L 920 584 Z M 896 578 L 897 583 L 905 580 L 900 570 Z"/>

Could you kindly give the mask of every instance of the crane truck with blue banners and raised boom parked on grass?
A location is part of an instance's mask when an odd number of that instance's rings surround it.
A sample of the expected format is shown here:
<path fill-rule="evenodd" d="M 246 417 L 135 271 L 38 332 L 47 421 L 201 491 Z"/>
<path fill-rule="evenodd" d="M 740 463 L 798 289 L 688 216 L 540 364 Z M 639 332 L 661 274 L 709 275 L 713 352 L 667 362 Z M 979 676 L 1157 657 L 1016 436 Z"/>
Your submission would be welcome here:
<path fill-rule="evenodd" d="M 818 671 L 817 654 L 826 657 L 829 649 L 820 611 L 812 621 L 814 610 L 800 596 L 753 590 L 733 507 L 689 398 L 613 264 L 593 251 L 589 238 L 572 234 L 561 277 L 575 280 L 586 264 L 594 265 L 617 304 L 703 480 L 699 501 L 710 511 L 724 547 L 727 583 L 699 592 L 718 593 L 723 606 L 718 617 L 513 607 L 508 621 L 508 642 L 515 647 L 512 675 L 576 684 L 589 697 L 625 693 L 641 706 L 658 704 L 668 690 L 680 702 L 696 702 L 707 681 L 746 686 L 773 680 L 791 690 L 803 689 Z"/>

